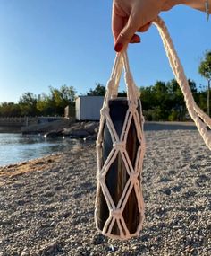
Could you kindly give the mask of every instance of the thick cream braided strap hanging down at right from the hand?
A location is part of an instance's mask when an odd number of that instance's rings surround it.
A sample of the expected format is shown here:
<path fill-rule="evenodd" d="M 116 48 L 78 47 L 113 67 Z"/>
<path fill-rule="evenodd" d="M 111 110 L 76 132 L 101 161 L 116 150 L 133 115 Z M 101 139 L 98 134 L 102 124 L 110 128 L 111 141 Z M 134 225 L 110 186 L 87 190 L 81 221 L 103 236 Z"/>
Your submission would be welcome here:
<path fill-rule="evenodd" d="M 165 22 L 160 17 L 157 17 L 154 24 L 159 31 L 161 39 L 163 40 L 166 55 L 169 59 L 170 66 L 172 67 L 177 83 L 181 87 L 181 92 L 184 95 L 184 100 L 190 113 L 190 117 L 195 122 L 199 134 L 211 150 L 211 134 L 207 130 L 207 127 L 211 128 L 211 119 L 198 107 L 193 99 L 187 77 L 184 73 L 183 67 L 181 66 L 181 61 L 177 56 L 176 50 L 174 49 L 173 41 L 165 26 Z"/>

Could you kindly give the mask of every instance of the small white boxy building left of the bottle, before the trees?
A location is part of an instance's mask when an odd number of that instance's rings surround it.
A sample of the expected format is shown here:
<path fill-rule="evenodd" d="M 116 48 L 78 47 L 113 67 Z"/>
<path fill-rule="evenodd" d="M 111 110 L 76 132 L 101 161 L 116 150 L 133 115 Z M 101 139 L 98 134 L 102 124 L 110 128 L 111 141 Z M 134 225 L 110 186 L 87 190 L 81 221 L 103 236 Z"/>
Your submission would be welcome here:
<path fill-rule="evenodd" d="M 75 100 L 77 120 L 99 120 L 104 96 L 79 96 Z"/>

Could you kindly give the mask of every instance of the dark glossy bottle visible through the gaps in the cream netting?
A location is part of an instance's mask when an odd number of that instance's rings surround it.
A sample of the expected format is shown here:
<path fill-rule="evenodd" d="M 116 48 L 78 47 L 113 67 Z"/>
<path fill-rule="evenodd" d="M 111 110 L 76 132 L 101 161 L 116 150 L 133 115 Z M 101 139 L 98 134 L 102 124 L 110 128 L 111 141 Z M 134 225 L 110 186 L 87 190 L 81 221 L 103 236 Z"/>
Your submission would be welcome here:
<path fill-rule="evenodd" d="M 125 115 L 128 110 L 128 100 L 126 98 L 117 98 L 109 101 L 109 109 L 110 109 L 110 117 L 113 120 L 114 128 L 118 134 L 121 136 L 122 126 L 124 123 Z M 138 107 L 139 111 L 139 107 Z M 140 114 L 140 112 L 139 112 Z M 131 164 L 134 167 L 136 154 L 139 147 L 139 140 L 136 133 L 136 128 L 134 124 L 134 120 L 131 120 L 131 127 L 129 129 L 126 149 L 129 154 Z M 105 123 L 104 132 L 103 132 L 103 143 L 102 143 L 102 165 L 105 163 L 108 154 L 111 152 L 113 148 L 113 142 L 110 135 L 110 132 Z M 117 206 L 119 199 L 122 196 L 122 191 L 126 185 L 126 182 L 129 180 L 129 175 L 124 166 L 122 156 L 120 153 L 117 154 L 117 157 L 112 163 L 109 171 L 106 174 L 105 183 L 110 192 L 112 199 L 114 200 L 114 205 Z M 97 195 L 97 226 L 100 230 L 103 230 L 105 221 L 109 216 L 109 210 L 105 201 L 104 194 L 100 188 Z M 128 230 L 131 234 L 134 234 L 137 231 L 139 225 L 139 208 L 138 202 L 135 194 L 134 188 L 131 190 L 131 194 L 126 203 L 126 206 L 123 210 L 123 218 L 125 224 L 127 225 Z M 116 223 L 114 223 L 114 227 L 112 233 L 114 235 L 119 235 L 120 231 Z"/>

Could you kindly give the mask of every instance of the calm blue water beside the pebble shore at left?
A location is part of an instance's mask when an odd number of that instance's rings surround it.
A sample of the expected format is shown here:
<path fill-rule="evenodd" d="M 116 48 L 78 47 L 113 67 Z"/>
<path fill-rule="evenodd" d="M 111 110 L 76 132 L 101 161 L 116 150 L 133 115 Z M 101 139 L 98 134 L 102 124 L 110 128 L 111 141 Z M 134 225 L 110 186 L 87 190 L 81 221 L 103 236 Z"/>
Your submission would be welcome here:
<path fill-rule="evenodd" d="M 19 133 L 0 133 L 0 166 L 19 163 L 79 147 L 81 142 L 69 138 L 22 136 Z"/>

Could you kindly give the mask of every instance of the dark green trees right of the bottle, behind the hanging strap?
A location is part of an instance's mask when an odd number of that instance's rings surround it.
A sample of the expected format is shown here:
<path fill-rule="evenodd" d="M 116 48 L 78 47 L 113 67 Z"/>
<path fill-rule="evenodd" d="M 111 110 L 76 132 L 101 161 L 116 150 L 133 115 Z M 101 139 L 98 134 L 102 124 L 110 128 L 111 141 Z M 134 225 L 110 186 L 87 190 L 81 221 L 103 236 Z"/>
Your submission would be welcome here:
<path fill-rule="evenodd" d="M 197 86 L 194 81 L 188 80 L 194 98 L 200 103 Z M 157 81 L 155 85 L 141 87 L 140 99 L 147 120 L 183 121 L 187 110 L 183 94 L 175 79 L 165 83 Z"/>

